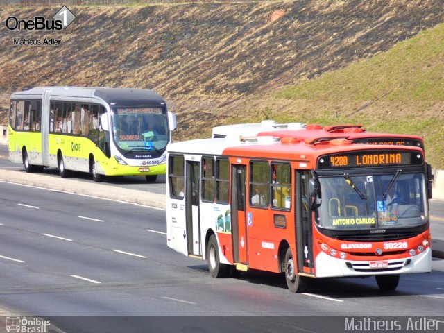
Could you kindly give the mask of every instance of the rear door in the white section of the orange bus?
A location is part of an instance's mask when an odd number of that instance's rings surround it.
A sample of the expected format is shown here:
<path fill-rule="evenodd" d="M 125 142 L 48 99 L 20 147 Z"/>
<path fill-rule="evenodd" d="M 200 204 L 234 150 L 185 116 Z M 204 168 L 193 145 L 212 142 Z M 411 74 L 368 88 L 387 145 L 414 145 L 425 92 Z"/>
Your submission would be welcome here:
<path fill-rule="evenodd" d="M 185 214 L 187 221 L 188 255 L 201 256 L 199 221 L 199 162 L 187 161 L 185 184 Z"/>

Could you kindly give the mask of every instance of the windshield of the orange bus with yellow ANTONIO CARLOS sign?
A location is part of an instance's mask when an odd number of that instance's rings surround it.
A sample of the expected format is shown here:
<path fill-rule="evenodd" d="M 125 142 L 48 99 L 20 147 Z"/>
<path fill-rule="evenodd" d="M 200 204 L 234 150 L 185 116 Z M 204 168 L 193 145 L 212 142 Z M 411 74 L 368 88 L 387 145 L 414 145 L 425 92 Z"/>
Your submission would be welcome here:
<path fill-rule="evenodd" d="M 330 230 L 411 228 L 428 222 L 427 187 L 422 173 L 319 178 L 317 223 Z"/>

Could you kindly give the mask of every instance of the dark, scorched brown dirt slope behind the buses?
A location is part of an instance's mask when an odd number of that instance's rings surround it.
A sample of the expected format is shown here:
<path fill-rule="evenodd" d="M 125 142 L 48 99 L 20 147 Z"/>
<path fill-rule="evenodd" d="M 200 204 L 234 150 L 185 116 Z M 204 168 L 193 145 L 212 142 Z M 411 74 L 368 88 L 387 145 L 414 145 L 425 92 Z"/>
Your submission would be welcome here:
<path fill-rule="evenodd" d="M 3 6 L 0 21 L 49 18 L 58 9 Z M 9 31 L 2 23 L 0 123 L 6 123 L 10 93 L 26 86 L 147 87 L 177 112 L 179 139 L 198 136 L 203 128 L 236 116 L 252 94 L 345 67 L 444 22 L 442 0 L 69 9 L 77 18 L 62 32 Z M 18 37 L 54 38 L 61 44 L 15 46 Z"/>

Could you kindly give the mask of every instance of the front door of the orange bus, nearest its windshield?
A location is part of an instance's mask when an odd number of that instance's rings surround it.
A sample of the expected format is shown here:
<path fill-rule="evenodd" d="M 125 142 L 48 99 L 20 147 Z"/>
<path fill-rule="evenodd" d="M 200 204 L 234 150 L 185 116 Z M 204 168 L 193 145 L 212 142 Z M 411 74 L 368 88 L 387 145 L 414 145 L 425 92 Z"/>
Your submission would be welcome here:
<path fill-rule="evenodd" d="M 310 171 L 296 170 L 296 256 L 298 273 L 314 275 L 313 227 L 309 207 Z"/>

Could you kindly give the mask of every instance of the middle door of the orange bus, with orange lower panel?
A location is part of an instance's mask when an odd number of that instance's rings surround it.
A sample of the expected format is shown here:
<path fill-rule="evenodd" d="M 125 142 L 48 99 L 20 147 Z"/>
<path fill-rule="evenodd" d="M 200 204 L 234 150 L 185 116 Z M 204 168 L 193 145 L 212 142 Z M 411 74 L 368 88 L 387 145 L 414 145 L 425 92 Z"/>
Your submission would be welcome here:
<path fill-rule="evenodd" d="M 233 164 L 231 169 L 231 219 L 234 262 L 248 264 L 246 203 L 246 166 Z"/>

